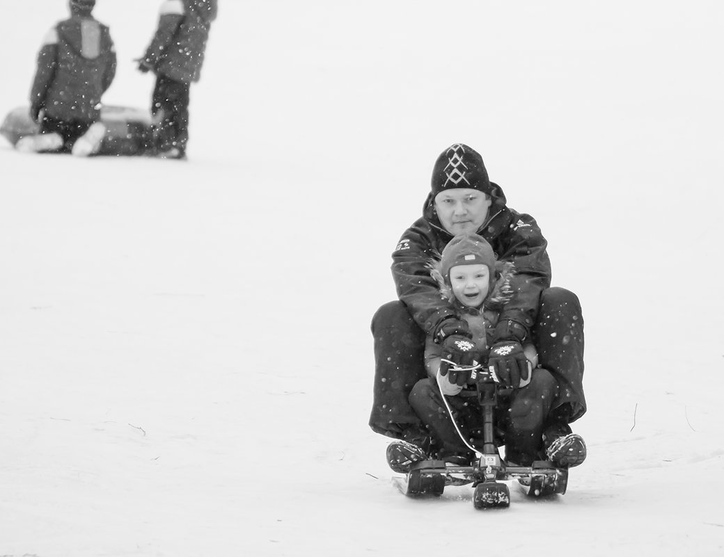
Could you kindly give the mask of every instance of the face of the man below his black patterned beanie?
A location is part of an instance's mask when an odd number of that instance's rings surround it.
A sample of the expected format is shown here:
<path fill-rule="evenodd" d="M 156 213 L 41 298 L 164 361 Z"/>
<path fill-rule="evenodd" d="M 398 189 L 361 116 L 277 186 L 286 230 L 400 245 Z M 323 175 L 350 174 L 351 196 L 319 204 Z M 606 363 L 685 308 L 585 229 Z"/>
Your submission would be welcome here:
<path fill-rule="evenodd" d="M 476 233 L 492 205 L 489 195 L 467 187 L 456 187 L 435 196 L 435 211 L 442 227 L 453 236 Z"/>

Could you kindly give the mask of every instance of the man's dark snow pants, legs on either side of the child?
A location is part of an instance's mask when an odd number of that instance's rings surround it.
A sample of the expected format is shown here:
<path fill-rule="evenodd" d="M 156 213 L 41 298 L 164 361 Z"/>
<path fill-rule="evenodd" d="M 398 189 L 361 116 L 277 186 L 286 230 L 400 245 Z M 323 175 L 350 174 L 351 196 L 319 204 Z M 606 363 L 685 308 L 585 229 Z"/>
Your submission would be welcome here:
<path fill-rule="evenodd" d="M 374 391 L 369 425 L 376 433 L 398 439 L 424 435 L 424 423 L 411 407 L 413 386 L 427 377 L 425 333 L 400 301 L 388 302 L 372 318 Z M 557 383 L 550 420 L 571 423 L 586 412 L 584 397 L 584 319 L 573 292 L 552 287 L 541 294 L 532 329 L 538 365 Z"/>

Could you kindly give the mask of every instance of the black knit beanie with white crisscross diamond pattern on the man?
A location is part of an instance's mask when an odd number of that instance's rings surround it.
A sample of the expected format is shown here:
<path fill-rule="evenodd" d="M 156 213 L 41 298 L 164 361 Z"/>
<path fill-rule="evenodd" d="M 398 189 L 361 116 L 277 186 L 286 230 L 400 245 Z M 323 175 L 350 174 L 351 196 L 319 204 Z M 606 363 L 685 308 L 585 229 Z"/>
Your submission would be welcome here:
<path fill-rule="evenodd" d="M 455 143 L 440 153 L 432 169 L 432 197 L 444 190 L 467 187 L 497 197 L 497 188 L 490 184 L 483 158 L 475 150 Z"/>

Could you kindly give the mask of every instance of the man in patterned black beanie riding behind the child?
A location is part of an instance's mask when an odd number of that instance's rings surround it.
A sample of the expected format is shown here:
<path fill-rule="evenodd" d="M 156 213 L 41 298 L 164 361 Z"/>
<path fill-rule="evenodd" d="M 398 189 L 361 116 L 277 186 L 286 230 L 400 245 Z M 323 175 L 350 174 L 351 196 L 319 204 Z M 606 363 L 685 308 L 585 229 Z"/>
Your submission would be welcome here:
<path fill-rule="evenodd" d="M 506 205 L 505 194 L 490 182 L 479 153 L 467 145 L 447 148 L 435 162 L 432 190 L 423 216 L 405 231 L 392 253 L 392 276 L 398 301 L 377 310 L 372 320 L 376 362 L 374 401 L 369 425 L 400 441 L 387 449 L 393 469 L 405 456 L 432 450 L 427 430 L 408 401 L 415 383 L 426 376 L 427 335 L 440 344 L 453 337 L 471 338 L 471 331 L 440 297 L 429 273 L 447 242 L 461 233 L 479 234 L 497 258 L 515 265 L 512 295 L 502 307 L 490 343 L 488 364 L 506 385 L 518 383 L 527 366 L 522 344 L 532 341 L 539 365 L 557 380 L 558 394 L 543 438 L 546 451 L 554 440 L 576 440 L 571 465 L 585 458 L 585 445 L 569 423 L 586 412 L 583 392 L 584 331 L 581 306 L 572 292 L 552 288 L 547 241 L 534 218 Z M 544 456 L 544 455 L 542 455 Z M 547 456 L 550 456 L 550 452 Z"/>

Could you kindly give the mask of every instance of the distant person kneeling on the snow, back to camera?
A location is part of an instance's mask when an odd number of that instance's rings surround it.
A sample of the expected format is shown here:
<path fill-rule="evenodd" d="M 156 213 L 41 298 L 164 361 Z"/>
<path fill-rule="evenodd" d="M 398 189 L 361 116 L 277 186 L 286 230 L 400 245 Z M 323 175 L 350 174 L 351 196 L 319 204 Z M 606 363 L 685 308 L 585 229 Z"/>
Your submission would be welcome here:
<path fill-rule="evenodd" d="M 30 117 L 40 135 L 20 139 L 26 152 L 95 153 L 105 135 L 101 97 L 116 74 L 108 27 L 91 15 L 96 0 L 70 0 L 70 14 L 49 30 L 38 54 L 30 93 Z"/>

